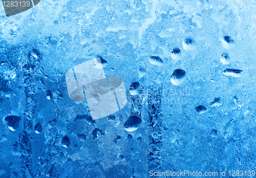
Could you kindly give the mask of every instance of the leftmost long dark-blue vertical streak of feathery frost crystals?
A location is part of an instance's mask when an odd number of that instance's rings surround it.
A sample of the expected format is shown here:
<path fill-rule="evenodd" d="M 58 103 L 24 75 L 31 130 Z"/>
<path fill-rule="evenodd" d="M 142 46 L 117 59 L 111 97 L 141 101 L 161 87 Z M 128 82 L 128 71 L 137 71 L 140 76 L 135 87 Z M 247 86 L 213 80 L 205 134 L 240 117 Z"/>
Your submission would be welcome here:
<path fill-rule="evenodd" d="M 34 57 L 37 54 L 36 57 Z M 35 97 L 35 71 L 39 71 L 38 66 L 35 63 L 39 63 L 38 59 L 40 57 L 39 51 L 33 49 L 30 53 L 25 53 L 26 64 L 23 66 L 23 82 L 25 88 L 26 97 L 26 109 L 24 112 L 24 130 L 19 134 L 19 152 L 20 152 L 20 168 L 22 172 L 22 177 L 33 176 L 33 163 L 32 163 L 32 138 L 29 135 L 31 129 L 33 128 L 34 113 L 36 107 L 36 97 Z M 38 72 L 39 73 L 39 72 Z M 29 175 L 28 175 L 29 174 Z"/>

